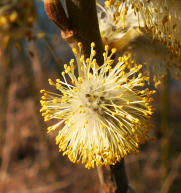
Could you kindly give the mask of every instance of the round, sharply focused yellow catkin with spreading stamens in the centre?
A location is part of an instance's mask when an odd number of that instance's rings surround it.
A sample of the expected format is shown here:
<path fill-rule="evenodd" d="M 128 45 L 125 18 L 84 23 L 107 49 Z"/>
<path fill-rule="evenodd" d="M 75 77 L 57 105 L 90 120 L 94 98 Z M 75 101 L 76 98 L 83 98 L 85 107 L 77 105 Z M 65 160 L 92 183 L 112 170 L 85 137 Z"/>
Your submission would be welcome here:
<path fill-rule="evenodd" d="M 116 49 L 109 54 L 105 46 L 104 63 L 98 64 L 94 43 L 89 58 L 81 54 L 81 43 L 78 47 L 73 52 L 81 76 L 75 75 L 73 59 L 65 64 L 64 81 L 49 79 L 58 92 L 41 90 L 40 112 L 45 121 L 57 120 L 48 133 L 58 130 L 56 143 L 70 161 L 86 168 L 114 165 L 129 153 L 138 153 L 140 144 L 149 140 L 155 91 L 145 88 L 149 78 L 139 73 L 142 65 L 131 68 L 130 56 L 114 61 Z"/>

